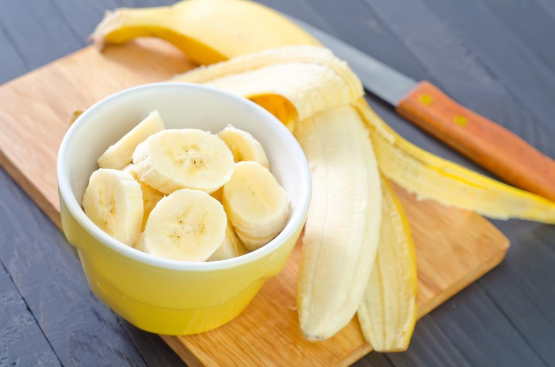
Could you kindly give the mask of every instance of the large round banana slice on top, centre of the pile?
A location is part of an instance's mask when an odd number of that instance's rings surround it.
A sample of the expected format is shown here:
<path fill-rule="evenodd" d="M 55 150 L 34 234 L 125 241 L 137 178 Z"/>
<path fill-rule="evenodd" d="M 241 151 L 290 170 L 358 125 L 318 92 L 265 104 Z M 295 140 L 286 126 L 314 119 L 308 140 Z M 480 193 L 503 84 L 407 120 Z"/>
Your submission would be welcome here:
<path fill-rule="evenodd" d="M 180 188 L 211 193 L 228 182 L 233 155 L 218 136 L 198 129 L 157 132 L 133 153 L 139 179 L 169 194 Z"/>

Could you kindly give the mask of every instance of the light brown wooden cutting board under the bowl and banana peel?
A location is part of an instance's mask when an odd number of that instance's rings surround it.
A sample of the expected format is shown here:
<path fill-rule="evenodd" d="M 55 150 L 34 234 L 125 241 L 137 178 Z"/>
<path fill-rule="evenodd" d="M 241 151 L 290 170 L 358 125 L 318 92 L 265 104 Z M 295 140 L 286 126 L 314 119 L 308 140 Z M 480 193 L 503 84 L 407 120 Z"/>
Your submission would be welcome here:
<path fill-rule="evenodd" d="M 162 81 L 195 65 L 159 40 L 68 55 L 0 86 L 0 164 L 60 226 L 56 155 L 75 109 L 129 86 Z M 496 266 L 508 240 L 473 212 L 396 191 L 410 222 L 418 263 L 418 316 Z M 162 338 L 189 365 L 348 365 L 369 353 L 354 318 L 335 337 L 308 342 L 295 309 L 300 244 L 238 318 L 210 332 Z"/>

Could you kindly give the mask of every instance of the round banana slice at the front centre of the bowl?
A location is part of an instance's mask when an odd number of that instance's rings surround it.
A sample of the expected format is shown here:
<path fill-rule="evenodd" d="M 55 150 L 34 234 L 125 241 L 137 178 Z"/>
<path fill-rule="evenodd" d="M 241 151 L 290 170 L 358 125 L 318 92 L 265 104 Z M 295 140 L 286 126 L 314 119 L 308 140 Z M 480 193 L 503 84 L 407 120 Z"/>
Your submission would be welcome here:
<path fill-rule="evenodd" d="M 144 250 L 181 261 L 206 261 L 225 238 L 223 206 L 208 193 L 183 188 L 162 198 L 144 229 Z"/>

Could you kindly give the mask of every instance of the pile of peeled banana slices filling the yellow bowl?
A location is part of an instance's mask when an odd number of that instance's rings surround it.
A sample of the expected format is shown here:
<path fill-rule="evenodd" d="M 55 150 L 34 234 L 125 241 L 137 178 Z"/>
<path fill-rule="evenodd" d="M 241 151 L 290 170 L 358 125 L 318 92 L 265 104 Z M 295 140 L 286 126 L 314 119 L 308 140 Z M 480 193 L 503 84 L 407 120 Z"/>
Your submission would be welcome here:
<path fill-rule="evenodd" d="M 83 196 L 85 214 L 108 235 L 154 256 L 241 256 L 270 242 L 289 217 L 289 198 L 264 148 L 233 126 L 218 135 L 165 129 L 154 111 L 98 165 Z"/>

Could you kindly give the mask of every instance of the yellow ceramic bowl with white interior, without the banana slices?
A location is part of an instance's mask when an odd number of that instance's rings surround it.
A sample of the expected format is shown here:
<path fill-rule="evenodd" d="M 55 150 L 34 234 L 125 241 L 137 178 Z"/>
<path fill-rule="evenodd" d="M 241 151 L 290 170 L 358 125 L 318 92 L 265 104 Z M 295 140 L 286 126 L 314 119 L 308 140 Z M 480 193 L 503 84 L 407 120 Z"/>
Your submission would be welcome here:
<path fill-rule="evenodd" d="M 233 259 L 181 262 L 151 256 L 108 236 L 80 202 L 96 160 L 125 132 L 157 109 L 166 128 L 249 131 L 264 146 L 271 171 L 291 199 L 284 230 L 266 246 Z M 306 218 L 310 170 L 290 132 L 260 106 L 202 85 L 157 83 L 99 101 L 68 130 L 58 152 L 62 225 L 77 247 L 90 287 L 137 327 L 183 335 L 219 327 L 236 317 L 266 278 L 284 266 Z"/>

